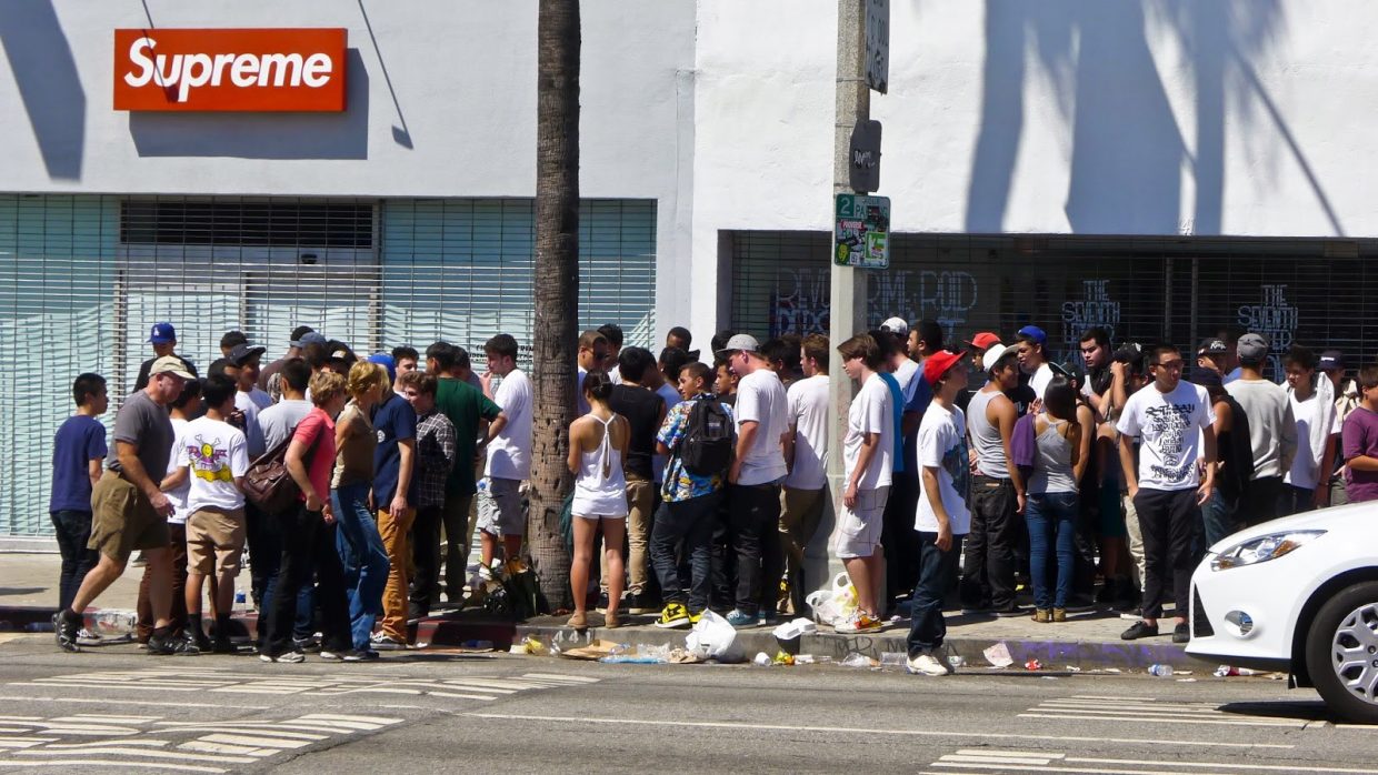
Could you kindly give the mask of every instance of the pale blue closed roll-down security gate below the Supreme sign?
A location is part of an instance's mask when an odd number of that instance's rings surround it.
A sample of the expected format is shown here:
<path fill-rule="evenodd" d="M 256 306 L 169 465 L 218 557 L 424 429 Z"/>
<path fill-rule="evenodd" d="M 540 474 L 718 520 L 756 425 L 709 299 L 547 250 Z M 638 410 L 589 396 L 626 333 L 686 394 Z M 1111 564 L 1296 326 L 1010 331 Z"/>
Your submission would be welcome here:
<path fill-rule="evenodd" d="M 0 195 L 0 535 L 51 534 L 52 434 L 72 379 L 120 396 L 169 321 L 204 373 L 220 335 L 267 347 L 310 325 L 358 352 L 437 339 L 475 354 L 495 333 L 531 347 L 531 200 L 287 200 Z M 580 325 L 655 329 L 656 205 L 580 208 Z"/>

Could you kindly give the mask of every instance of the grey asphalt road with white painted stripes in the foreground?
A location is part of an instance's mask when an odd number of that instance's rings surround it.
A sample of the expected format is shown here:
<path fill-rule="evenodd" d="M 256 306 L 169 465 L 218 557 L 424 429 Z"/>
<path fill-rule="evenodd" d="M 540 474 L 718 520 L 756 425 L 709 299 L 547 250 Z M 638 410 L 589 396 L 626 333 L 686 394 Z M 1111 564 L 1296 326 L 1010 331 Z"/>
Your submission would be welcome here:
<path fill-rule="evenodd" d="M 364 665 L 55 652 L 0 635 L 0 772 L 1371 772 L 1378 727 L 1283 681 L 970 669 Z"/>

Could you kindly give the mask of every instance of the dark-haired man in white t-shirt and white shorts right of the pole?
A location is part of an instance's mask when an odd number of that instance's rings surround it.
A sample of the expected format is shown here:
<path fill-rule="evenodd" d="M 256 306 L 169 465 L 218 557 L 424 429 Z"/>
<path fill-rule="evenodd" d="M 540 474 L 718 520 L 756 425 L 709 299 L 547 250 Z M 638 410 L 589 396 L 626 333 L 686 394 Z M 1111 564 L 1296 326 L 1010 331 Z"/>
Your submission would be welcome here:
<path fill-rule="evenodd" d="M 845 485 L 838 518 L 836 553 L 857 591 L 857 610 L 839 622 L 842 633 L 881 629 L 881 580 L 885 551 L 885 502 L 890 494 L 894 458 L 894 398 L 881 379 L 885 355 L 870 335 L 853 336 L 838 346 L 842 369 L 861 390 L 847 407 L 847 431 L 842 440 Z"/>

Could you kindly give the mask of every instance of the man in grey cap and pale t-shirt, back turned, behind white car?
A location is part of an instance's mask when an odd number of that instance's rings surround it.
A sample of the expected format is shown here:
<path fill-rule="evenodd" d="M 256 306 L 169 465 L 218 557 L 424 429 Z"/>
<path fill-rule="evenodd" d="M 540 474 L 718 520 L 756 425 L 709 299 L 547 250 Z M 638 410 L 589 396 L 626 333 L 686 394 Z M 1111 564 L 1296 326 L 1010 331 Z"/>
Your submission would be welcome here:
<path fill-rule="evenodd" d="M 1297 420 L 1287 390 L 1264 377 L 1268 340 L 1246 333 L 1236 344 L 1240 376 L 1225 384 L 1225 392 L 1244 407 L 1248 417 L 1248 445 L 1254 450 L 1254 476 L 1244 489 L 1239 516 L 1253 527 L 1282 516 L 1283 474 L 1297 454 Z"/>

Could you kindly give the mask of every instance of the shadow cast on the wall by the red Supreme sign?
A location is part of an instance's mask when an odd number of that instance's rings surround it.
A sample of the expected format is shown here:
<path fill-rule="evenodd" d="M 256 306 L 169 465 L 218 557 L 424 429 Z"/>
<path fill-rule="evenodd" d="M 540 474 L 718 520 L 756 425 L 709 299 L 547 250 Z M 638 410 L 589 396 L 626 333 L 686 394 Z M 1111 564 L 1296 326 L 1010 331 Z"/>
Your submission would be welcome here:
<path fill-rule="evenodd" d="M 369 74 L 344 52 L 343 113 L 130 113 L 141 157 L 368 158 Z"/>

